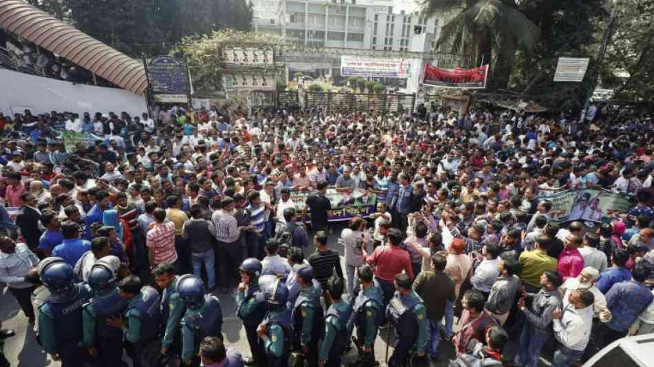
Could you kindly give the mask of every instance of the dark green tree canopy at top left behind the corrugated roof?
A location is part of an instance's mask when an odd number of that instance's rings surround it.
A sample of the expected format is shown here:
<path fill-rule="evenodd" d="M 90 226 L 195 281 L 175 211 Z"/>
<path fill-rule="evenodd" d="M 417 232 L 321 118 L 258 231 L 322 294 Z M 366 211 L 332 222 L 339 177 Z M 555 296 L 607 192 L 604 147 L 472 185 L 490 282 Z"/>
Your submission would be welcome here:
<path fill-rule="evenodd" d="M 27 0 L 133 57 L 168 54 L 185 36 L 249 30 L 246 0 Z"/>

